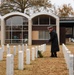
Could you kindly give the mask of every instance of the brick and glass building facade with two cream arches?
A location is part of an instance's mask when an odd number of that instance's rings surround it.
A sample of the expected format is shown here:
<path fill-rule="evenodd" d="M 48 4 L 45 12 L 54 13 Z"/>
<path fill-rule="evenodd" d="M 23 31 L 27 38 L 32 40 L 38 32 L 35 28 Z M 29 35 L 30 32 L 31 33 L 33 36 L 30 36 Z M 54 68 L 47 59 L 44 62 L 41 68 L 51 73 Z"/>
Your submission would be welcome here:
<path fill-rule="evenodd" d="M 74 38 L 74 18 L 59 18 L 53 13 L 39 12 L 28 16 L 12 12 L 0 16 L 0 43 L 28 45 L 47 43 L 50 38 L 47 27 L 55 25 L 59 44 L 66 43 L 67 38 Z"/>

